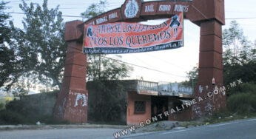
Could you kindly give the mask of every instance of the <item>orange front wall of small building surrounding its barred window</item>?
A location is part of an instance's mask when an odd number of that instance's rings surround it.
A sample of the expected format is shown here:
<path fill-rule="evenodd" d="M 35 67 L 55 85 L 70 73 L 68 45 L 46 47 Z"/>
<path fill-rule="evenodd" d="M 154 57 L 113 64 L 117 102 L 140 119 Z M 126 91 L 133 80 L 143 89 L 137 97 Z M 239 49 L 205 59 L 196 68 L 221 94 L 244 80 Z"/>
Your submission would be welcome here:
<path fill-rule="evenodd" d="M 146 101 L 146 112 L 135 113 L 135 101 Z M 151 95 L 138 95 L 137 92 L 128 92 L 127 97 L 127 124 L 139 124 L 151 119 Z"/>

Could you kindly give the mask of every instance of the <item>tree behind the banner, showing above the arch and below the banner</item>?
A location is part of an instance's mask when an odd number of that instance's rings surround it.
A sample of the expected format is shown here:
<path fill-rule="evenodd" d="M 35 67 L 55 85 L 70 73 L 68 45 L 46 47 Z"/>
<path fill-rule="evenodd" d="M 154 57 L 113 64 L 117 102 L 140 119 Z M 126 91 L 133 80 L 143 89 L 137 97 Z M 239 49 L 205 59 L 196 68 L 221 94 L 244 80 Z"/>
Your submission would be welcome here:
<path fill-rule="evenodd" d="M 107 1 L 100 1 L 98 4 L 91 4 L 81 16 L 89 19 L 104 13 Z M 87 80 L 118 80 L 129 76 L 132 67 L 118 60 L 107 58 L 106 55 L 88 55 L 87 58 Z"/>

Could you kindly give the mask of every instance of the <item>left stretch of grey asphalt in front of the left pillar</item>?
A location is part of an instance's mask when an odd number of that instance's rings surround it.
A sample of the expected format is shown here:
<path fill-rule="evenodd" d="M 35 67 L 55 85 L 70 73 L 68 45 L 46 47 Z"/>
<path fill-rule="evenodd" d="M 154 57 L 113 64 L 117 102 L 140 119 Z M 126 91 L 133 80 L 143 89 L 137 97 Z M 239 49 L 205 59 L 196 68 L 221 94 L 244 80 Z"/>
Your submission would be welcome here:
<path fill-rule="evenodd" d="M 112 139 L 121 129 L 43 129 L 0 131 L 0 139 Z"/>

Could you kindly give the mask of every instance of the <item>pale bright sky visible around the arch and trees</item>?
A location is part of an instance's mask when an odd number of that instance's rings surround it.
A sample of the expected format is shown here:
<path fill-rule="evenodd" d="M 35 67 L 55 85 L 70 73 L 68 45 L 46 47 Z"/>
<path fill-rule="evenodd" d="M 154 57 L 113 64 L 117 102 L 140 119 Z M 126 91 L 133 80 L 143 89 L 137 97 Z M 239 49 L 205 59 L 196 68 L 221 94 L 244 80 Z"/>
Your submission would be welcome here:
<path fill-rule="evenodd" d="M 18 4 L 21 1 L 9 0 L 7 4 L 10 7 L 6 12 L 22 13 L 19 9 Z M 27 3 L 33 2 L 41 4 L 43 0 L 26 0 Z M 48 0 L 48 7 L 55 8 L 59 5 L 59 10 L 65 16 L 80 16 L 80 13 L 84 12 L 90 4 L 98 2 L 99 0 Z M 108 0 L 107 10 L 112 10 L 121 7 L 124 0 Z M 255 0 L 225 0 L 225 17 L 226 24 L 223 29 L 229 28 L 230 18 L 248 18 L 248 19 L 237 19 L 240 27 L 243 28 L 244 35 L 250 41 L 256 40 L 256 1 Z M 22 14 L 11 14 L 13 22 L 16 27 L 23 28 L 21 23 L 24 15 Z M 79 17 L 63 17 L 64 21 L 82 20 Z M 143 24 L 161 24 L 164 19 L 147 21 Z M 131 77 L 126 79 L 138 79 L 143 78 L 145 81 L 164 81 L 164 82 L 175 82 L 185 81 L 186 72 L 192 69 L 192 67 L 198 66 L 199 58 L 199 38 L 200 38 L 200 27 L 193 24 L 192 22 L 184 21 L 184 47 L 175 50 L 163 50 L 157 52 L 141 52 L 134 54 L 122 54 L 122 61 L 136 64 L 142 67 L 150 69 L 157 69 L 157 71 L 144 69 L 141 67 L 133 67 L 134 71 Z M 107 55 L 115 58 L 115 55 Z"/>

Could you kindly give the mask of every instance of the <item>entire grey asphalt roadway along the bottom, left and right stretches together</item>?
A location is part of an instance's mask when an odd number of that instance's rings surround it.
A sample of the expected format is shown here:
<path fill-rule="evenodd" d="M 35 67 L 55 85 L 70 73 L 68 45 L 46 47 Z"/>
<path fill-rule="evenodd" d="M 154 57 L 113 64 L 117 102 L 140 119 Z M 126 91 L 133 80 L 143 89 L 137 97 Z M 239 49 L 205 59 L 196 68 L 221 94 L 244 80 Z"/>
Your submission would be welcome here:
<path fill-rule="evenodd" d="M 44 129 L 44 130 L 12 130 L 0 131 L 0 139 L 52 139 L 52 138 L 83 138 L 109 139 L 113 133 L 121 129 Z M 252 138 L 256 139 L 256 118 L 228 123 L 218 123 L 207 126 L 198 126 L 188 129 L 172 129 L 164 132 L 136 133 L 123 138 L 132 139 L 222 139 L 222 138 Z"/>

